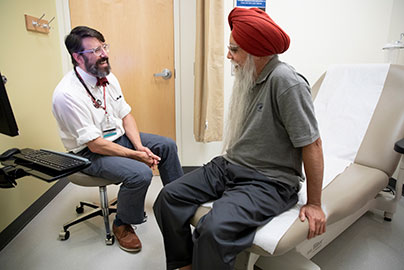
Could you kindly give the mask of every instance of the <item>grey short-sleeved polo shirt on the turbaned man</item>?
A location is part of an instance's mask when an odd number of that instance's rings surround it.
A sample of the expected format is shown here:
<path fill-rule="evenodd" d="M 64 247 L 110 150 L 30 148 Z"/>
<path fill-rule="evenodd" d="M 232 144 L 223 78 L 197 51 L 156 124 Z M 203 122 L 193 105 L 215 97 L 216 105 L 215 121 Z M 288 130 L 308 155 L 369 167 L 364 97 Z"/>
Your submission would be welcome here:
<path fill-rule="evenodd" d="M 224 158 L 298 187 L 303 181 L 302 147 L 320 137 L 310 87 L 275 55 L 253 92 L 240 139 Z"/>

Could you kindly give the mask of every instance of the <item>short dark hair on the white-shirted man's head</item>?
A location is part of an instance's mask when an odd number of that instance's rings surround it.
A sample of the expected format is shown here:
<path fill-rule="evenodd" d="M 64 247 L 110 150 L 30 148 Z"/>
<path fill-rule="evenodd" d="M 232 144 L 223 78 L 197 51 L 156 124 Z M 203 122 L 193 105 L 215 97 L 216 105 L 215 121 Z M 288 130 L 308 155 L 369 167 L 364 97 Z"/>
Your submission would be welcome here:
<path fill-rule="evenodd" d="M 82 40 L 87 37 L 93 37 L 100 42 L 105 42 L 104 36 L 100 32 L 87 26 L 76 26 L 65 39 L 65 45 L 74 66 L 77 66 L 78 63 L 74 60 L 73 53 L 79 53 L 84 50 Z"/>

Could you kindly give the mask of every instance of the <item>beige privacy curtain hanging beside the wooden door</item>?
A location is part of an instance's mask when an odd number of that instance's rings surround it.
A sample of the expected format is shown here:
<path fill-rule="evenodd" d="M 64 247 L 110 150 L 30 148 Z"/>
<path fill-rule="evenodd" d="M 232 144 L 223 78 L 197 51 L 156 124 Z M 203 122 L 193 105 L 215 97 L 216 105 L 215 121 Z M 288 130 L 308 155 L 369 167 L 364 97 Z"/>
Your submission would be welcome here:
<path fill-rule="evenodd" d="M 197 0 L 194 136 L 197 142 L 223 136 L 223 0 Z"/>

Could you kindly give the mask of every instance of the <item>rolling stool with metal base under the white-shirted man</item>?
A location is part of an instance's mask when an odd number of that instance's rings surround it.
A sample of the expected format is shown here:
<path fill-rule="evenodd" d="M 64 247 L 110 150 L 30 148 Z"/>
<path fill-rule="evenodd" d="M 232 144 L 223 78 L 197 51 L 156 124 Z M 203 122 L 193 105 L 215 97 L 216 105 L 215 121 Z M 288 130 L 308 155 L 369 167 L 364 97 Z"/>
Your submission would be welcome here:
<path fill-rule="evenodd" d="M 111 227 L 109 225 L 109 215 L 111 213 L 116 213 L 116 203 L 117 199 L 113 199 L 110 202 L 108 202 L 108 196 L 107 196 L 107 185 L 111 184 L 117 184 L 117 183 L 112 183 L 111 180 L 105 179 L 105 178 L 100 178 L 96 176 L 90 176 L 81 172 L 72 174 L 67 177 L 70 182 L 79 185 L 79 186 L 85 186 L 85 187 L 99 187 L 100 191 L 100 204 L 97 203 L 90 203 L 90 202 L 80 202 L 79 206 L 76 206 L 76 212 L 78 214 L 82 214 L 84 212 L 84 206 L 88 206 L 91 208 L 94 208 L 90 212 L 83 214 L 76 219 L 67 222 L 63 225 L 63 230 L 59 233 L 59 239 L 60 240 L 67 240 L 69 239 L 70 232 L 68 231 L 68 228 L 72 225 L 75 225 L 77 223 L 80 223 L 82 221 L 85 221 L 87 219 L 90 219 L 95 216 L 103 216 L 104 217 L 104 224 L 105 224 L 105 231 L 106 231 L 106 237 L 105 237 L 105 244 L 106 245 L 112 245 L 114 244 L 115 238 L 111 234 Z M 119 183 L 119 182 L 118 182 Z"/>

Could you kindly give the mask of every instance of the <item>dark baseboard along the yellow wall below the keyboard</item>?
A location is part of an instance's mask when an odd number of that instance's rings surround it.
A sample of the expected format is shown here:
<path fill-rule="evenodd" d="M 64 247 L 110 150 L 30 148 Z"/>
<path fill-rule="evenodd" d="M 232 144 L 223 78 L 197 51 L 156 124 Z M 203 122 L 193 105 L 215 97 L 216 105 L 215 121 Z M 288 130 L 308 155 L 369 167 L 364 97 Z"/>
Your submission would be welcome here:
<path fill-rule="evenodd" d="M 69 183 L 63 178 L 50 187 L 21 215 L 0 232 L 0 251 Z M 18 186 L 17 186 L 18 188 Z"/>

